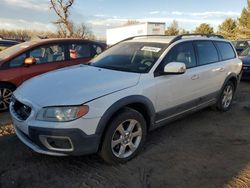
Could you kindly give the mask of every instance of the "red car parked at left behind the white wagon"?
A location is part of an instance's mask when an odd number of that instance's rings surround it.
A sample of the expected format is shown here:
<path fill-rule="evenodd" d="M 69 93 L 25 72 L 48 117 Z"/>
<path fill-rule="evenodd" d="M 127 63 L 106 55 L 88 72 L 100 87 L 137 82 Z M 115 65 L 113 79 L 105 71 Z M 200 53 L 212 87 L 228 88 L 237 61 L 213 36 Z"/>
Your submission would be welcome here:
<path fill-rule="evenodd" d="M 25 80 L 66 66 L 87 63 L 106 49 L 81 39 L 24 42 L 0 52 L 0 111 L 9 107 L 12 92 Z"/>

